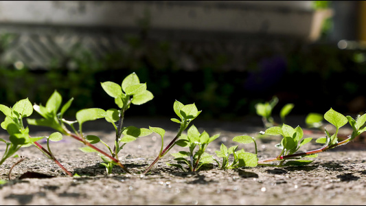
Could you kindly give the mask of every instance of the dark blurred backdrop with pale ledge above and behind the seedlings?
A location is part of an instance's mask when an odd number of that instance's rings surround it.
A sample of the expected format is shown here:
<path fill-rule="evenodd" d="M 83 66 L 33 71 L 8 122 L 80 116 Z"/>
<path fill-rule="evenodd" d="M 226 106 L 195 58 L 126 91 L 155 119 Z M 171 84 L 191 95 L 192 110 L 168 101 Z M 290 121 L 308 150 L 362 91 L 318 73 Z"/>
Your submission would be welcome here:
<path fill-rule="evenodd" d="M 366 111 L 365 1 L 0 1 L 0 104 L 46 103 L 66 115 L 116 108 L 100 82 L 135 72 L 155 98 L 126 115 L 202 118 Z"/>

